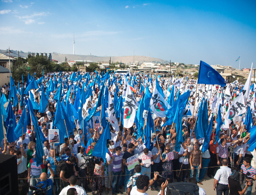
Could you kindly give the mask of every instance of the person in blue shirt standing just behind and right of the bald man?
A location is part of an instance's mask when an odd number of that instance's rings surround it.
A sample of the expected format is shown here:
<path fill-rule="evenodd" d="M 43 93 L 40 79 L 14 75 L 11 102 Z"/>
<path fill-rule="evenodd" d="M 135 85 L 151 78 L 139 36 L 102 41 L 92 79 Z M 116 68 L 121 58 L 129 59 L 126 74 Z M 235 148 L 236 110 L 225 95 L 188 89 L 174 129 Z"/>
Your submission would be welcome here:
<path fill-rule="evenodd" d="M 60 159 L 59 159 L 59 157 L 57 157 L 57 158 L 54 157 L 54 149 L 53 148 L 50 150 L 50 154 L 51 154 L 51 157 L 48 157 L 47 159 L 45 156 L 42 157 L 44 159 L 42 161 L 42 163 L 44 163 L 44 165 L 50 163 L 51 168 L 54 171 L 54 183 L 56 185 L 55 194 L 59 194 L 60 188 L 59 188 L 59 179 L 57 179 L 56 167 L 59 164 Z M 50 172 L 50 169 L 48 169 L 48 177 L 50 177 L 50 175 L 51 175 L 51 172 Z"/>

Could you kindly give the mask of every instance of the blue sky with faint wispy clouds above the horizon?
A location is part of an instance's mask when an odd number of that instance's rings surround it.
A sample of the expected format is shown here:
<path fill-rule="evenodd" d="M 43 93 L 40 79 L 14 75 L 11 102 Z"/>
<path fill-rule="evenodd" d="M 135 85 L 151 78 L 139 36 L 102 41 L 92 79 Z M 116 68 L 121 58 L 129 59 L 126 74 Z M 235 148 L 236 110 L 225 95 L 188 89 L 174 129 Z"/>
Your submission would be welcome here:
<path fill-rule="evenodd" d="M 256 65 L 256 1 L 0 1 L 0 49 Z"/>

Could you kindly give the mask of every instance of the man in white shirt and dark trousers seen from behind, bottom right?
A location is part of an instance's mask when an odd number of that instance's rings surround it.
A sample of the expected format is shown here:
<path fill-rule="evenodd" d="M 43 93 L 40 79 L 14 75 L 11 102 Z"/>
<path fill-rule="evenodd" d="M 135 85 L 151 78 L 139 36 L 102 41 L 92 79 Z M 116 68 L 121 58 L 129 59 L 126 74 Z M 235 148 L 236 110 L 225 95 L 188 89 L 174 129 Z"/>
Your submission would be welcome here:
<path fill-rule="evenodd" d="M 217 170 L 214 176 L 214 190 L 216 189 L 217 194 L 228 194 L 228 177 L 231 175 L 231 168 L 228 168 L 228 160 L 223 159 L 220 169 Z M 218 185 L 217 185 L 218 184 Z"/>

